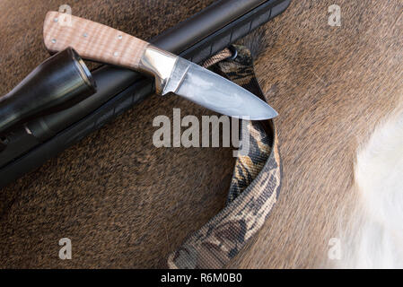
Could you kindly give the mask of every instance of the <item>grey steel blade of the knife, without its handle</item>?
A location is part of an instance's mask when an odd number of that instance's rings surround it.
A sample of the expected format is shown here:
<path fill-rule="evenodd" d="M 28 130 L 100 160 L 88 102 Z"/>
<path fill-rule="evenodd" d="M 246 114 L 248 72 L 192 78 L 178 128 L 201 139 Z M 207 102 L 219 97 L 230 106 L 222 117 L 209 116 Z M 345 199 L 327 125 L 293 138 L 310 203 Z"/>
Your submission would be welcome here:
<path fill-rule="evenodd" d="M 180 57 L 162 94 L 170 91 L 230 117 L 262 120 L 278 115 L 250 91 Z"/>

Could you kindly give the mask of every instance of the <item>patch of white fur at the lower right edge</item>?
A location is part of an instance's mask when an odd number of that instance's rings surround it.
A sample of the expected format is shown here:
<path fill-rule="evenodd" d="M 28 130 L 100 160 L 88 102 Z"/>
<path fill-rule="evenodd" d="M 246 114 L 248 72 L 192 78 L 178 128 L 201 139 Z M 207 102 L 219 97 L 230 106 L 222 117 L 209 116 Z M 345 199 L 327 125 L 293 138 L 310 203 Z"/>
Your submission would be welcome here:
<path fill-rule="evenodd" d="M 355 207 L 341 224 L 342 257 L 334 266 L 403 268 L 403 112 L 381 123 L 359 150 L 352 192 Z"/>

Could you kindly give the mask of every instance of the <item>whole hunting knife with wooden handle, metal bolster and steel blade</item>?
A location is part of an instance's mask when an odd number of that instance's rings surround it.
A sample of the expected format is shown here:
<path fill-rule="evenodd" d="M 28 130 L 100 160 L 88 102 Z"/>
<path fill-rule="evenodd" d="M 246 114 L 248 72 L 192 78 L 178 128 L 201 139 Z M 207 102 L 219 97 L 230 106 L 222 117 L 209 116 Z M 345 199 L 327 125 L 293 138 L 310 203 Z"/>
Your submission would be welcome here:
<path fill-rule="evenodd" d="M 277 116 L 265 101 L 222 76 L 101 23 L 51 11 L 43 36 L 51 52 L 72 47 L 83 58 L 153 75 L 155 90 L 162 96 L 173 92 L 230 117 Z"/>

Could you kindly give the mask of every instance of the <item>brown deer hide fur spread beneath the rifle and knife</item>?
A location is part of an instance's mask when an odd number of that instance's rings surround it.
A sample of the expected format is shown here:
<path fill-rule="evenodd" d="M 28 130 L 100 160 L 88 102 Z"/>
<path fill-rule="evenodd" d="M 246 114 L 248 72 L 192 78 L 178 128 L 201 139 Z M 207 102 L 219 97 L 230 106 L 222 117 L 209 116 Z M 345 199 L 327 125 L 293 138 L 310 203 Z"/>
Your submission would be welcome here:
<path fill-rule="evenodd" d="M 72 1 L 73 13 L 141 39 L 213 1 Z M 0 2 L 0 94 L 48 57 L 41 26 L 64 1 Z M 341 27 L 328 7 L 341 7 Z M 351 193 L 355 153 L 403 95 L 403 3 L 293 1 L 243 42 L 279 112 L 284 181 L 268 221 L 230 267 L 320 267 Z M 209 112 L 153 96 L 0 192 L 1 267 L 162 267 L 225 203 L 228 148 L 157 149 L 157 115 Z M 346 208 L 348 210 L 348 208 Z M 346 212 L 344 216 L 348 216 Z M 73 242 L 73 260 L 57 257 Z"/>

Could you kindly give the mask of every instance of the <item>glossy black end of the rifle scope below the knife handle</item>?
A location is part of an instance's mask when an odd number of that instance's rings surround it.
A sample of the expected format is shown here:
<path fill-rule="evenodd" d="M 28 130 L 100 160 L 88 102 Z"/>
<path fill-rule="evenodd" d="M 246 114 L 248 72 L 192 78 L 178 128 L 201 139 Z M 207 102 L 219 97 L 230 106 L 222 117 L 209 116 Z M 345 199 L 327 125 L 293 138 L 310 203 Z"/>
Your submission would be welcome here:
<path fill-rule="evenodd" d="M 0 134 L 31 119 L 70 108 L 95 92 L 96 83 L 82 58 L 73 48 L 66 48 L 0 97 Z"/>

